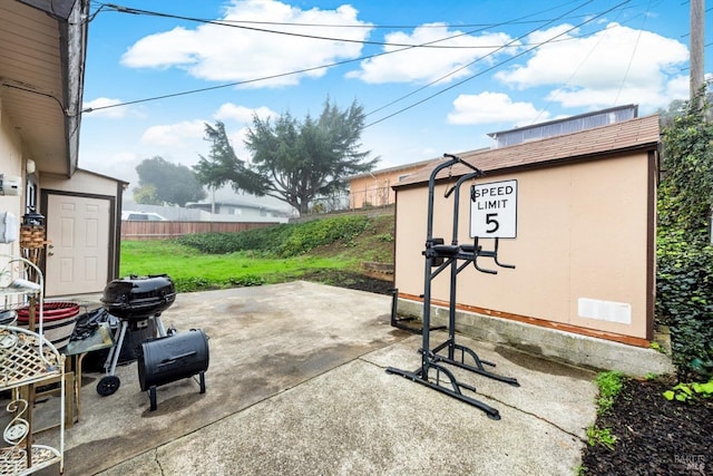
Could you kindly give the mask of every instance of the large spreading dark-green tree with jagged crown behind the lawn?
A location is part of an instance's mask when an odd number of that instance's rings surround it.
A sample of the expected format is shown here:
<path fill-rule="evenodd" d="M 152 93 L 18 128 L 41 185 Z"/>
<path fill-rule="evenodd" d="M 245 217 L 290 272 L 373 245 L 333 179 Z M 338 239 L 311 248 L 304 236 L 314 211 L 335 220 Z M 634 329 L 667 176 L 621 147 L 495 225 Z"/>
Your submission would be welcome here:
<path fill-rule="evenodd" d="M 229 183 L 235 191 L 268 195 L 306 213 L 318 196 L 343 186 L 343 178 L 371 171 L 378 158 L 361 150 L 364 127 L 363 108 L 353 103 L 340 110 L 329 99 L 315 119 L 307 115 L 300 122 L 284 114 L 277 119 L 253 116 L 245 145 L 253 154 L 246 163 L 229 146 L 225 127 L 206 125 L 213 142 L 208 158 L 201 157 L 194 169 L 202 183 L 221 186 Z"/>

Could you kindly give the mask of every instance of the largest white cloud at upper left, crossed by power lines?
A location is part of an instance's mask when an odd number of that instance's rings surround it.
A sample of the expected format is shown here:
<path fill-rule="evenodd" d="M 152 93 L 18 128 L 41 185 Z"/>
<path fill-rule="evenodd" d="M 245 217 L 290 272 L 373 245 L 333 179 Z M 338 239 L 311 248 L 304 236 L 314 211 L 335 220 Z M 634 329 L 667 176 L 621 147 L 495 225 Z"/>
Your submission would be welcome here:
<path fill-rule="evenodd" d="M 358 11 L 350 6 L 341 6 L 335 10 L 300 10 L 275 0 L 234 0 L 217 21 L 246 28 L 203 25 L 194 30 L 175 28 L 150 35 L 134 43 L 124 54 L 121 64 L 130 68 L 178 67 L 192 76 L 212 81 L 251 81 L 359 57 L 362 48 L 360 42 L 297 36 L 363 41 L 369 36 L 370 23 L 358 20 L 356 14 Z M 247 21 L 326 26 L 256 25 Z M 334 28 L 329 25 L 361 25 L 365 28 Z M 244 87 L 295 85 L 303 77 L 321 77 L 324 74 L 325 68 L 320 68 L 250 82 Z"/>

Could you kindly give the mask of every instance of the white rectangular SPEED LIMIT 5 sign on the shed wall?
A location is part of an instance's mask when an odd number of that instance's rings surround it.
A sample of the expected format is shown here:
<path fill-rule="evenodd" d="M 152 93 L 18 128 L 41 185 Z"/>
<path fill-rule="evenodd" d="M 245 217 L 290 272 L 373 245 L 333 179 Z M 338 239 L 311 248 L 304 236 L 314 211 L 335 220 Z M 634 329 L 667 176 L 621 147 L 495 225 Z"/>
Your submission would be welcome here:
<path fill-rule="evenodd" d="M 470 237 L 517 237 L 517 181 L 470 187 Z"/>

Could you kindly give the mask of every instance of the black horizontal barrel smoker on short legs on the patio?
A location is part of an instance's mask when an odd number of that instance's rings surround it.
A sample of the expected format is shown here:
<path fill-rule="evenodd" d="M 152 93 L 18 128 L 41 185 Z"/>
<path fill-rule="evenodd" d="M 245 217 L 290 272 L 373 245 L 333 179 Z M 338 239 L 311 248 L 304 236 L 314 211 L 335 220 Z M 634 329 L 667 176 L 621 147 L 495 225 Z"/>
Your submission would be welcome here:
<path fill-rule="evenodd" d="M 201 329 L 149 339 L 141 344 L 138 358 L 138 381 L 148 391 L 150 411 L 156 409 L 156 387 L 198 376 L 201 394 L 205 394 L 205 371 L 208 369 L 208 337 Z"/>

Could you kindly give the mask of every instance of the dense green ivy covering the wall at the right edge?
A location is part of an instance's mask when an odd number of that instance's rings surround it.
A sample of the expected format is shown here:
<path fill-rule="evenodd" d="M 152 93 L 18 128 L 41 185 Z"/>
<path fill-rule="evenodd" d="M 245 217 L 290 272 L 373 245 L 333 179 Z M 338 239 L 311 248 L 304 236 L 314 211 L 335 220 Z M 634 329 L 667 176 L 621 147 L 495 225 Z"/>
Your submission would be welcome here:
<path fill-rule="evenodd" d="M 664 129 L 656 246 L 657 320 L 671 328 L 680 376 L 697 379 L 713 373 L 713 126 L 704 111 L 686 106 Z"/>

